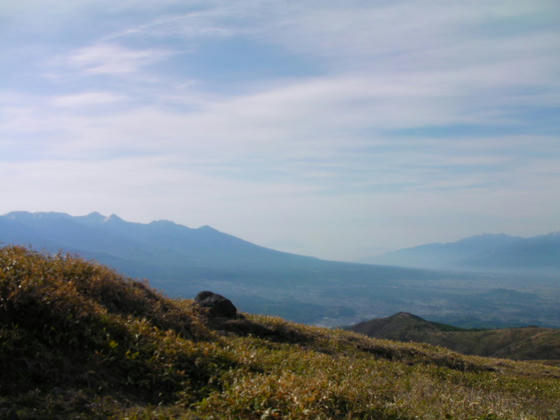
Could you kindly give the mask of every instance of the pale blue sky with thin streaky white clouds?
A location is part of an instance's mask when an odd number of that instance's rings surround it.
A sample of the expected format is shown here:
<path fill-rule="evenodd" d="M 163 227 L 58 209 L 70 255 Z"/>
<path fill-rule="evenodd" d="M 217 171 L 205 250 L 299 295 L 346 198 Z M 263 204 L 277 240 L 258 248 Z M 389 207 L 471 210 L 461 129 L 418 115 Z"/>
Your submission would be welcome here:
<path fill-rule="evenodd" d="M 0 214 L 336 260 L 560 230 L 560 2 L 0 3 Z"/>

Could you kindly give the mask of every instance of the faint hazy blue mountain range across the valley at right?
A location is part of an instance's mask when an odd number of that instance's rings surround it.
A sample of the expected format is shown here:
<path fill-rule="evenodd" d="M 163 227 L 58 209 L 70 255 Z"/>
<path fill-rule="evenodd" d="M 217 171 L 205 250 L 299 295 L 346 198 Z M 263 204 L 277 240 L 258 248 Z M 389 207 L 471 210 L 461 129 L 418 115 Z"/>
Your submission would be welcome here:
<path fill-rule="evenodd" d="M 560 233 L 532 238 L 478 235 L 388 252 L 362 262 L 432 269 L 558 271 Z"/>

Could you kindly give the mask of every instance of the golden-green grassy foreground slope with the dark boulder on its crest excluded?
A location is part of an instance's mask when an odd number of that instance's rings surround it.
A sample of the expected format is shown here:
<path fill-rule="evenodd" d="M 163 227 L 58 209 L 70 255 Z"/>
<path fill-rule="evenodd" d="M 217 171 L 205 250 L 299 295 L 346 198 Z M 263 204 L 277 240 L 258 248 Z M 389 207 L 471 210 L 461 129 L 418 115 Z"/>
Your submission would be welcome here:
<path fill-rule="evenodd" d="M 560 369 L 246 316 L 0 249 L 0 418 L 560 416 Z"/>

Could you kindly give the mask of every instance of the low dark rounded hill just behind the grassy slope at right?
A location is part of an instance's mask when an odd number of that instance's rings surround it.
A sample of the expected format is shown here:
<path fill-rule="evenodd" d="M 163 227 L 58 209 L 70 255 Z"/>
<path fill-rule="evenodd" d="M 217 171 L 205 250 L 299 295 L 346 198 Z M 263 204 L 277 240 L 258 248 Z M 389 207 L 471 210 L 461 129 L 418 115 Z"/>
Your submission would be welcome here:
<path fill-rule="evenodd" d="M 560 360 L 560 330 L 553 328 L 467 330 L 401 312 L 361 322 L 348 329 L 370 337 L 447 347 L 464 354 L 517 360 Z"/>

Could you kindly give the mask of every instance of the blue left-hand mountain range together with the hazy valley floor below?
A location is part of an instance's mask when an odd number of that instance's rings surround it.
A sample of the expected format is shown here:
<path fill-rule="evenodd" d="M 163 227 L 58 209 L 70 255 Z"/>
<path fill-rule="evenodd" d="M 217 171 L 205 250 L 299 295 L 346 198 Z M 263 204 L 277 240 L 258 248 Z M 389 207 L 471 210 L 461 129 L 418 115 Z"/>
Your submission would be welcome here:
<path fill-rule="evenodd" d="M 324 261 L 260 247 L 208 226 L 131 223 L 99 213 L 14 212 L 0 216 L 0 244 L 70 252 L 148 278 L 173 297 L 210 289 L 244 311 L 308 324 L 350 325 L 407 308 L 467 327 L 560 326 L 556 279 Z"/>

